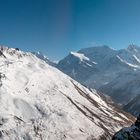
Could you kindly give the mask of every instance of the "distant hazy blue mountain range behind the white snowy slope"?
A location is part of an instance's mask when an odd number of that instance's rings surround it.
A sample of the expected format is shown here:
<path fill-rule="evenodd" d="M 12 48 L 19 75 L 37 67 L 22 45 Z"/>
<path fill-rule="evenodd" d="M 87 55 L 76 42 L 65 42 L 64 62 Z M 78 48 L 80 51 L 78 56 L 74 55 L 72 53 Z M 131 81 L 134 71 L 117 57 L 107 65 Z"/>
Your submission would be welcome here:
<path fill-rule="evenodd" d="M 73 54 L 61 60 L 58 68 L 83 85 L 106 93 L 121 104 L 140 93 L 140 47 L 129 45 L 114 50 L 97 46 Z"/>

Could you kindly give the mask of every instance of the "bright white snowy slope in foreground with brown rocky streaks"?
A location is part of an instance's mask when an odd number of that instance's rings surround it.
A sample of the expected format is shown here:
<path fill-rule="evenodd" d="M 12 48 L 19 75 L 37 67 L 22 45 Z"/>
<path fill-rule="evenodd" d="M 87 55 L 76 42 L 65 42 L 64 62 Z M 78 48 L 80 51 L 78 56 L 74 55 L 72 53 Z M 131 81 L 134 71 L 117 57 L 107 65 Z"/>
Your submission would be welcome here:
<path fill-rule="evenodd" d="M 0 110 L 4 140 L 109 140 L 134 120 L 96 90 L 8 47 L 0 47 Z"/>

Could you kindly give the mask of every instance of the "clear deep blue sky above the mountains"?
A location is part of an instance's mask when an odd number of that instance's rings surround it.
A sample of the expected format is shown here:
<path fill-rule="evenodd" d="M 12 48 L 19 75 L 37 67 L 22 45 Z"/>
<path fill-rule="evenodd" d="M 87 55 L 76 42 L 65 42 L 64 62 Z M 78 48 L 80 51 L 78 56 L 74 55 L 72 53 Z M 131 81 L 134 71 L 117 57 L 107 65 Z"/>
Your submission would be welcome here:
<path fill-rule="evenodd" d="M 0 0 L 0 44 L 52 60 L 95 45 L 140 45 L 140 0 Z"/>

